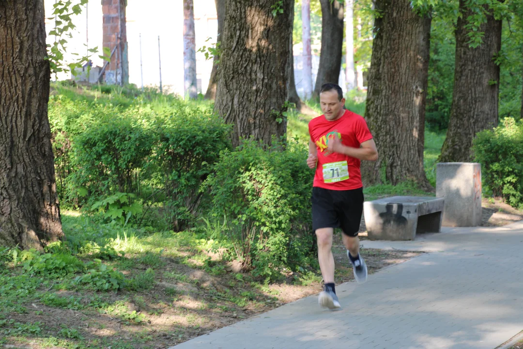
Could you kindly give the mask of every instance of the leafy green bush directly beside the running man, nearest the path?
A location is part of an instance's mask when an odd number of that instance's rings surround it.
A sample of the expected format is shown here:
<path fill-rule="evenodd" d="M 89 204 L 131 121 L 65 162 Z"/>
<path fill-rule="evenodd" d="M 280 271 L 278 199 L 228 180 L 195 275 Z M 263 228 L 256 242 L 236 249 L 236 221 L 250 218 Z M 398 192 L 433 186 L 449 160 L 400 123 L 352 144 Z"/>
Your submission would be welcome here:
<path fill-rule="evenodd" d="M 314 251 L 311 188 L 314 173 L 303 149 L 245 141 L 225 150 L 203 189 L 213 216 L 225 217 L 224 235 L 245 270 L 278 278 L 286 267 L 308 263 Z"/>

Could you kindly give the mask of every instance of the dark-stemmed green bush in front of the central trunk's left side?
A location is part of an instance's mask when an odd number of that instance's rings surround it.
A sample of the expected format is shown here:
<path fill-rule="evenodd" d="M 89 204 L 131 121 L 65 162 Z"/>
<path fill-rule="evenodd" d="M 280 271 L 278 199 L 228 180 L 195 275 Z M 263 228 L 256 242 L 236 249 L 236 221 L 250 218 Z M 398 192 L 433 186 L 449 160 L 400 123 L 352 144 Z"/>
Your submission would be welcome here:
<path fill-rule="evenodd" d="M 165 188 L 166 214 L 175 231 L 188 227 L 197 213 L 203 193 L 198 189 L 230 147 L 229 125 L 212 109 L 174 104 L 174 115 L 159 117 L 153 161 Z"/>

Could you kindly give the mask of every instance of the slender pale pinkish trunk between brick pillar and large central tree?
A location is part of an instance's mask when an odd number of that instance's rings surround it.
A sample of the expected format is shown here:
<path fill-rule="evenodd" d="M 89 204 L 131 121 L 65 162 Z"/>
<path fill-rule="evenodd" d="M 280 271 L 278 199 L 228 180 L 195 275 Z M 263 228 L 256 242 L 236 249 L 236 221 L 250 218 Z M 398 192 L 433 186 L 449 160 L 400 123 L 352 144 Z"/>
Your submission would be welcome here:
<path fill-rule="evenodd" d="M 195 12 L 192 0 L 184 0 L 184 93 L 198 97 L 196 83 Z"/>

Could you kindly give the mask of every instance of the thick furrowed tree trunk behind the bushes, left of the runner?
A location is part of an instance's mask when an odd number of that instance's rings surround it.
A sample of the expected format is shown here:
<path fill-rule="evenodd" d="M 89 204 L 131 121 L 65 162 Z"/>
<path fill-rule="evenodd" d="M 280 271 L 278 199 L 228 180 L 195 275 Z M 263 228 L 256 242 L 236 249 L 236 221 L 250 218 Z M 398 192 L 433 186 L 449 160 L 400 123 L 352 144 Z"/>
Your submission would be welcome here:
<path fill-rule="evenodd" d="M 232 123 L 234 145 L 253 136 L 265 144 L 287 131 L 293 0 L 226 0 L 220 78 L 214 108 Z"/>

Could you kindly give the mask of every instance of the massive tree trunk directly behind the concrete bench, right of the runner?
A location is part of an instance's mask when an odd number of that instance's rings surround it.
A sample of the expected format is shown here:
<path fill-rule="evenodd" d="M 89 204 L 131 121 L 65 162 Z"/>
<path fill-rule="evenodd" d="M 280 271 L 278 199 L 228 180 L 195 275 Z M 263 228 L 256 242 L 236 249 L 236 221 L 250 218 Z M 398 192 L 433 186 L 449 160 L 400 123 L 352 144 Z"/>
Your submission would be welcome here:
<path fill-rule="evenodd" d="M 379 160 L 364 162 L 366 183 L 429 184 L 423 167 L 430 17 L 409 0 L 377 0 L 365 117 Z"/>

